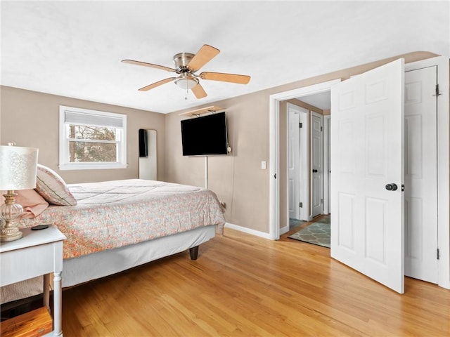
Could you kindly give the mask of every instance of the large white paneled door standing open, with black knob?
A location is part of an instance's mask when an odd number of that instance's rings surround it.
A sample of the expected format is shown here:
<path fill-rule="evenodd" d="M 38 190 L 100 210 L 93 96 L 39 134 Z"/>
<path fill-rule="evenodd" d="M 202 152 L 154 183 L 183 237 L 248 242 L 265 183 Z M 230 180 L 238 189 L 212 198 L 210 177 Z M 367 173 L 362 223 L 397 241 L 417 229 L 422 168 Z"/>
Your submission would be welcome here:
<path fill-rule="evenodd" d="M 404 293 L 404 59 L 333 86 L 331 114 L 331 256 Z"/>

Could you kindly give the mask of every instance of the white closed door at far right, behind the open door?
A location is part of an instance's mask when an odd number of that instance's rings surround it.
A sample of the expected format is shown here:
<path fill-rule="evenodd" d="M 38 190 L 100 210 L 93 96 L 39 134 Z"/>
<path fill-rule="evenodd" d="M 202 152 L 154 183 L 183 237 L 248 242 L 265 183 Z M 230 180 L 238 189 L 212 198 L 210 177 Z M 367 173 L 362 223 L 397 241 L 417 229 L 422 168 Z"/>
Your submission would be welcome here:
<path fill-rule="evenodd" d="M 405 275 L 438 282 L 437 67 L 405 72 Z"/>

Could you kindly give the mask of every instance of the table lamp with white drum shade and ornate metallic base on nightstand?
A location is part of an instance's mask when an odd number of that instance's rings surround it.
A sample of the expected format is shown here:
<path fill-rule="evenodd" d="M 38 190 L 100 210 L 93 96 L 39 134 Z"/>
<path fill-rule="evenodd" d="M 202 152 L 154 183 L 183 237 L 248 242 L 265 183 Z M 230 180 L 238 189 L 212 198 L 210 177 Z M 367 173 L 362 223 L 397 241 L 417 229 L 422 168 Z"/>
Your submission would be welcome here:
<path fill-rule="evenodd" d="M 15 190 L 36 187 L 37 152 L 32 147 L 0 145 L 0 190 L 6 190 L 5 203 L 0 207 L 0 242 L 14 241 L 22 237 L 22 232 L 14 220 L 23 213 L 23 207 L 15 204 Z"/>

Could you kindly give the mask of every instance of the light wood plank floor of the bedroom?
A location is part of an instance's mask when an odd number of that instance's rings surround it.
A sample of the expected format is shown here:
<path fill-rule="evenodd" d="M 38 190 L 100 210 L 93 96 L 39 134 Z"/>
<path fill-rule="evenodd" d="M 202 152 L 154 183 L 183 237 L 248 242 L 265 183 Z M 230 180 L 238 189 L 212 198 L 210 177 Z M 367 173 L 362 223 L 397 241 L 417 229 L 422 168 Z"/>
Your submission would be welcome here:
<path fill-rule="evenodd" d="M 449 290 L 406 278 L 399 295 L 288 234 L 225 229 L 198 260 L 65 290 L 64 336 L 450 336 Z"/>

